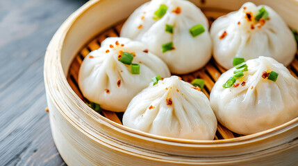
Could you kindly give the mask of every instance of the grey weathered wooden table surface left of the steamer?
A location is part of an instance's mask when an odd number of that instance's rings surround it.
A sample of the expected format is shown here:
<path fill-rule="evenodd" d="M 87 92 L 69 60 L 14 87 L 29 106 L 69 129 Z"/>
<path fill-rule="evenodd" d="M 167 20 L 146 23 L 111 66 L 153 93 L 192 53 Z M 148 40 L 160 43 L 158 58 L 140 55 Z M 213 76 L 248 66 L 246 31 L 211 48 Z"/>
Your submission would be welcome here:
<path fill-rule="evenodd" d="M 44 53 L 83 0 L 0 1 L 0 165 L 65 165 L 51 136 Z"/>

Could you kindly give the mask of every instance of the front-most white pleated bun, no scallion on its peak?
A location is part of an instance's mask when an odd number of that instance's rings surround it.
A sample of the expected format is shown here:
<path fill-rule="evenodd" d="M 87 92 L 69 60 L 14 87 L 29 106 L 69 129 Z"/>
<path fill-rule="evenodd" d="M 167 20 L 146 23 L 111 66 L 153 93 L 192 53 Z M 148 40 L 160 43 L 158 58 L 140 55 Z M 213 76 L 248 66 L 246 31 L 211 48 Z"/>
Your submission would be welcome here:
<path fill-rule="evenodd" d="M 131 100 L 123 124 L 173 138 L 213 140 L 217 120 L 209 100 L 177 76 L 151 83 Z"/>

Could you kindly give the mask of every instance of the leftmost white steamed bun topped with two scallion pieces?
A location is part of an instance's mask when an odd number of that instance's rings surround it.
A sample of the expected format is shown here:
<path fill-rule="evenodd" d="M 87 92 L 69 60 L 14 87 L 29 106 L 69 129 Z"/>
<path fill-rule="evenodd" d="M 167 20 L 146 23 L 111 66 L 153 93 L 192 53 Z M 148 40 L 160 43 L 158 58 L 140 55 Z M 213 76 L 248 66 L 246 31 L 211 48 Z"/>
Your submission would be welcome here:
<path fill-rule="evenodd" d="M 78 85 L 91 102 L 103 109 L 123 112 L 156 75 L 169 77 L 169 68 L 148 52 L 144 44 L 124 37 L 109 37 L 101 43 L 101 48 L 83 60 Z"/>

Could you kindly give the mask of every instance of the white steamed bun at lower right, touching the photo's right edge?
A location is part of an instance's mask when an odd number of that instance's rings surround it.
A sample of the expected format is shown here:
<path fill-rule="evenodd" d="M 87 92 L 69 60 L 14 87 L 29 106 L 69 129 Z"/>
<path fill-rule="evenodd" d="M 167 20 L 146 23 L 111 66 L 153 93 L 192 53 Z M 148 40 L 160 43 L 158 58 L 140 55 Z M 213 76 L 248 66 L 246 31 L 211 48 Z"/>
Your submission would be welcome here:
<path fill-rule="evenodd" d="M 223 73 L 213 86 L 210 104 L 217 120 L 231 131 L 246 135 L 297 118 L 298 80 L 290 71 L 271 57 L 261 56 L 246 64 L 244 76 L 229 82 L 233 86 L 223 87 L 227 80 L 233 80 L 230 78 L 235 68 Z"/>

